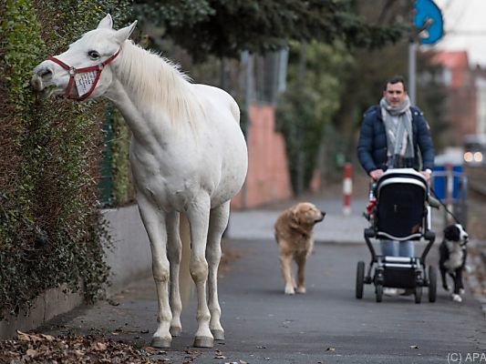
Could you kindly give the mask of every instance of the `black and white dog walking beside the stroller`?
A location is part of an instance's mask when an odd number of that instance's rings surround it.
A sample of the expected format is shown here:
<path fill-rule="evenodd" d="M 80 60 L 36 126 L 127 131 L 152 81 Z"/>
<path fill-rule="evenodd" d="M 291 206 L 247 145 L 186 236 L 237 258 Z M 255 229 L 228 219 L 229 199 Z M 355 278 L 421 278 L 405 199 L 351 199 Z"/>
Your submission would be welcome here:
<path fill-rule="evenodd" d="M 462 225 L 455 224 L 444 228 L 444 239 L 439 247 L 439 269 L 442 277 L 442 287 L 449 290 L 447 273 L 454 280 L 452 299 L 462 302 L 460 295 L 464 292 L 462 272 L 466 267 L 468 233 Z"/>

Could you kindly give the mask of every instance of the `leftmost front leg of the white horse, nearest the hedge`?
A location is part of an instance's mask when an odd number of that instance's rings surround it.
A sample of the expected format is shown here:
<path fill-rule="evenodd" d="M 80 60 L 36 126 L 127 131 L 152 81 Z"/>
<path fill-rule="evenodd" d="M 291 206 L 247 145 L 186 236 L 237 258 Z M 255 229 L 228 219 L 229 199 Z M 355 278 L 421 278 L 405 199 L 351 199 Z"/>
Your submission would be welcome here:
<path fill-rule="evenodd" d="M 169 306 L 169 260 L 167 259 L 167 233 L 165 218 L 160 211 L 143 195 L 137 197 L 140 217 L 147 230 L 152 252 L 152 272 L 157 288 L 159 312 L 157 331 L 153 334 L 151 346 L 155 348 L 171 347 L 171 307 Z"/>

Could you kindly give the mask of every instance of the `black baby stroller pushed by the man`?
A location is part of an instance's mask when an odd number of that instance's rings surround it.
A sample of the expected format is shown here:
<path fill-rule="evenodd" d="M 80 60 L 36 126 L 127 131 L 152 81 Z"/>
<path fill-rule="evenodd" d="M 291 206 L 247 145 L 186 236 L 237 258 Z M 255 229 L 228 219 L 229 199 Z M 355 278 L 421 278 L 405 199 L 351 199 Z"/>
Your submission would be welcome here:
<path fill-rule="evenodd" d="M 371 195 L 373 194 L 373 195 Z M 356 298 L 363 298 L 364 284 L 373 283 L 377 302 L 383 298 L 383 288 L 406 288 L 420 303 L 422 288 L 429 288 L 429 302 L 435 302 L 437 271 L 426 267 L 426 258 L 435 240 L 430 228 L 429 187 L 425 177 L 411 168 L 388 169 L 373 184 L 365 229 L 371 263 L 365 273 L 365 262 L 357 263 Z M 374 198 L 373 198 L 374 197 Z M 371 238 L 398 241 L 428 240 L 420 257 L 388 257 L 377 255 Z"/>

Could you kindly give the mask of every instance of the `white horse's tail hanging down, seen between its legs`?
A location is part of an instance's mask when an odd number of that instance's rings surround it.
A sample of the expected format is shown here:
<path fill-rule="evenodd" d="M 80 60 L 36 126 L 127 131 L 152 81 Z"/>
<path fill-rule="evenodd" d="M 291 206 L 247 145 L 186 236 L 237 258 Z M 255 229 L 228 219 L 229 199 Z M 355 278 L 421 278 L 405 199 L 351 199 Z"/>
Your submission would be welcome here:
<path fill-rule="evenodd" d="M 185 214 L 180 214 L 179 234 L 182 241 L 181 267 L 179 269 L 179 289 L 181 292 L 182 307 L 189 304 L 192 292 L 192 278 L 189 270 L 191 260 L 191 232 L 189 220 Z"/>

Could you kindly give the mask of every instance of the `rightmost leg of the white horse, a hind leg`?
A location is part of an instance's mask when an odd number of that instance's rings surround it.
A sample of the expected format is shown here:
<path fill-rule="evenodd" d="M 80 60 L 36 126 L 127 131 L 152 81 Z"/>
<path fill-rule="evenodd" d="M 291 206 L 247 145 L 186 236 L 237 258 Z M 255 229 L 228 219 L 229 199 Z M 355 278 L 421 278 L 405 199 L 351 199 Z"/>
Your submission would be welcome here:
<path fill-rule="evenodd" d="M 221 326 L 221 308 L 218 300 L 218 267 L 221 260 L 221 238 L 224 229 L 228 225 L 230 216 L 230 201 L 220 207 L 211 210 L 208 232 L 208 246 L 206 248 L 206 259 L 209 264 L 208 277 L 208 301 L 211 312 L 210 329 L 216 340 L 224 339 L 224 330 Z"/>

